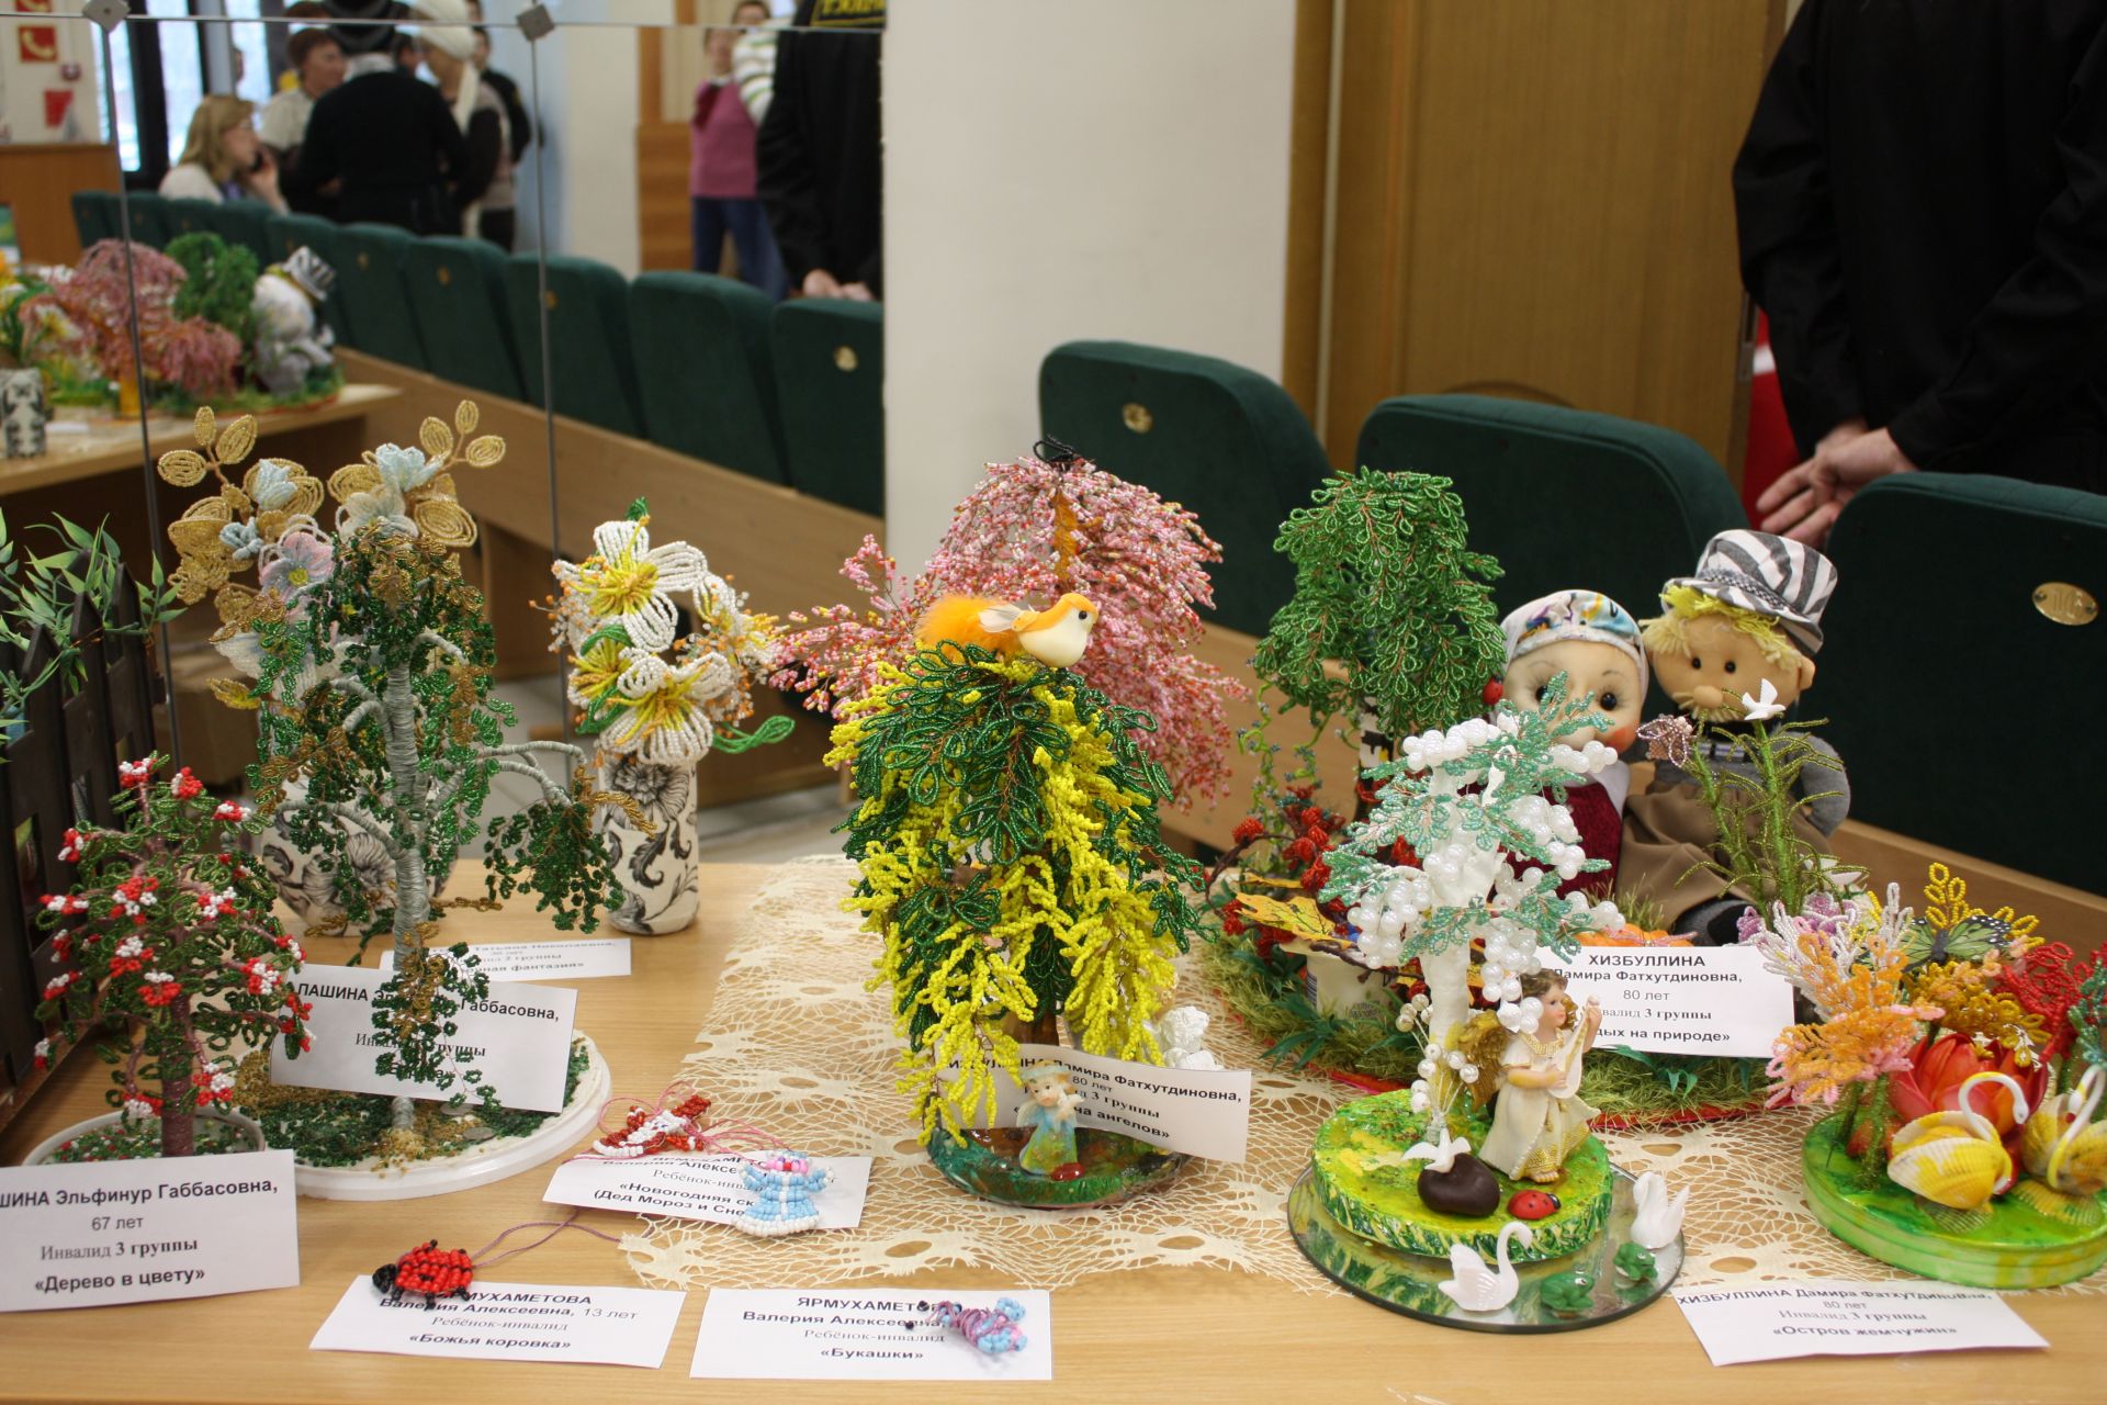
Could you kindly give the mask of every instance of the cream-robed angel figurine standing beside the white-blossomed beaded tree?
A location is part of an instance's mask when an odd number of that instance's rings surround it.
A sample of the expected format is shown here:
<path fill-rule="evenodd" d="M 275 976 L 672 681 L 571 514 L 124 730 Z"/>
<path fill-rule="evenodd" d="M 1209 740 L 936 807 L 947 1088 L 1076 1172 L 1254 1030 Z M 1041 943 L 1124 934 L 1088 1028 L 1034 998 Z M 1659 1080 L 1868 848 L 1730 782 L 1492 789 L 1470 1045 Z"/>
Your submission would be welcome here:
<path fill-rule="evenodd" d="M 1580 1055 L 1595 1045 L 1595 1001 L 1566 1028 L 1572 998 L 1559 971 L 1521 977 L 1523 1024 L 1500 1055 L 1500 1097 L 1479 1159 L 1509 1180 L 1555 1182 L 1589 1135 L 1595 1108 L 1580 1100 Z"/>

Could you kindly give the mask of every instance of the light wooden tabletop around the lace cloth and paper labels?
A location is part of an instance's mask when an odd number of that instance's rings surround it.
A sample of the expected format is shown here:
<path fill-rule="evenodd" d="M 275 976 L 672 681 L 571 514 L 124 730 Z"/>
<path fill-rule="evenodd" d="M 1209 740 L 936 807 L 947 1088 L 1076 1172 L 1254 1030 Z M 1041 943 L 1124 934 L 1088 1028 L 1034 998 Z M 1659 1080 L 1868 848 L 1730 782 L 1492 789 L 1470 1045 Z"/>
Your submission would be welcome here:
<path fill-rule="evenodd" d="M 626 979 L 577 982 L 577 1022 L 619 1089 L 659 1089 L 710 1028 L 710 992 L 748 897 L 767 868 L 706 866 L 697 925 L 638 937 Z M 468 885 L 464 885 L 466 891 Z M 457 912 L 455 939 L 518 942 L 556 933 L 525 910 Z M 312 961 L 341 958 L 343 942 L 310 944 Z M 813 1032 L 824 1038 L 824 1032 Z M 15 1165 L 53 1131 L 101 1112 L 107 1070 L 67 1060 L 51 1087 L 4 1133 Z M 480 1190 L 428 1201 L 299 1203 L 301 1285 L 272 1293 L 124 1308 L 0 1317 L 4 1401 L 636 1401 L 967 1399 L 948 1386 L 847 1388 L 689 1380 L 704 1293 L 691 1291 L 666 1365 L 558 1367 L 310 1352 L 308 1340 L 354 1274 L 367 1274 L 428 1236 L 483 1243 L 539 1220 L 550 1167 Z M 632 1215 L 588 1211 L 622 1232 Z M 634 1287 L 622 1253 L 586 1234 L 560 1234 L 510 1260 L 501 1281 Z M 938 1270 L 889 1285 L 1009 1287 L 988 1274 Z M 832 1287 L 786 1281 L 782 1287 Z M 1207 1268 L 1161 1268 L 1085 1279 L 1054 1295 L 1054 1384 L 1001 1392 L 1018 1401 L 2099 1401 L 2107 1380 L 2107 1308 L 2099 1298 L 2021 1295 L 2012 1304 L 2048 1352 L 1810 1359 L 1713 1369 L 1673 1304 L 1557 1338 L 1492 1338 L 1426 1327 L 1346 1295 Z"/>

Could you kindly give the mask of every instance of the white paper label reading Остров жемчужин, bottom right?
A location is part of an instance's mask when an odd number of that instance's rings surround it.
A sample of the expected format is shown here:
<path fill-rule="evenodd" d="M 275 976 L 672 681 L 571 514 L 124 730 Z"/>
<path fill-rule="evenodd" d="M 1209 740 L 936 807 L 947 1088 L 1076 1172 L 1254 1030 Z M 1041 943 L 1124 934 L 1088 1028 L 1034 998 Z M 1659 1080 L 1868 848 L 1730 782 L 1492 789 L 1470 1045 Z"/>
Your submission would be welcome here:
<path fill-rule="evenodd" d="M 1997 1293 L 1949 1283 L 1679 1287 L 1675 1304 L 1713 1365 L 2048 1346 Z"/>

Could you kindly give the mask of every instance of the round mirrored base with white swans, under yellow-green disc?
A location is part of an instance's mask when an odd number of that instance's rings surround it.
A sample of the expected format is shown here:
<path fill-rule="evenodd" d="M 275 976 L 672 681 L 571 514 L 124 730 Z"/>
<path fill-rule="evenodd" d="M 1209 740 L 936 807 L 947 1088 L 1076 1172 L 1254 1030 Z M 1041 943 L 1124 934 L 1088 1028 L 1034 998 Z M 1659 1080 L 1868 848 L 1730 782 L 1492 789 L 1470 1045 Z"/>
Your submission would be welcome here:
<path fill-rule="evenodd" d="M 1441 1291 L 1439 1285 L 1456 1277 L 1448 1260 L 1403 1253 L 1340 1228 L 1338 1220 L 1325 1213 L 1313 1171 L 1302 1171 L 1294 1190 L 1287 1192 L 1287 1228 L 1323 1277 L 1355 1298 L 1365 1298 L 1422 1323 L 1462 1327 L 1464 1331 L 1578 1331 L 1631 1317 L 1660 1298 L 1683 1266 L 1683 1241 L 1677 1234 L 1673 1245 L 1652 1251 L 1654 1274 L 1650 1279 L 1618 1274 L 1616 1251 L 1631 1243 L 1633 1199 L 1631 1175 L 1614 1167 L 1612 1171 L 1616 1190 L 1601 1236 L 1566 1258 L 1517 1266 L 1521 1289 L 1511 1304 L 1496 1312 L 1464 1312 Z M 1591 1274 L 1593 1289 L 1578 1310 L 1551 1310 L 1542 1298 L 1544 1281 L 1563 1279 L 1574 1270 Z"/>

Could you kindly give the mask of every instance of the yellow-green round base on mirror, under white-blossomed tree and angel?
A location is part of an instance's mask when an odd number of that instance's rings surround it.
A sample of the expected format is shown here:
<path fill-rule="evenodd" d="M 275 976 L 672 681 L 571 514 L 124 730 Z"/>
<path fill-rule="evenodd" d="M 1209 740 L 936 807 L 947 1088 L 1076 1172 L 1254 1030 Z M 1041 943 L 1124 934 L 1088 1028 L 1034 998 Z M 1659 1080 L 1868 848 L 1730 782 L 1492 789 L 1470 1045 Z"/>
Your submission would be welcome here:
<path fill-rule="evenodd" d="M 1559 1199 L 1559 1209 L 1530 1222 L 1534 1247 L 1511 1245 L 1515 1262 L 1576 1253 L 1599 1239 L 1610 1222 L 1616 1167 L 1595 1137 L 1566 1159 L 1563 1180 L 1549 1186 L 1509 1180 L 1485 1167 L 1500 1184 L 1500 1203 L 1488 1215 L 1464 1218 L 1429 1209 L 1418 1190 L 1426 1163 L 1405 1161 L 1405 1148 L 1420 1142 L 1424 1129 L 1426 1119 L 1412 1110 L 1407 1091 L 1357 1097 L 1334 1112 L 1317 1129 L 1317 1144 L 1311 1148 L 1311 1171 L 1325 1213 L 1359 1239 L 1443 1264 L 1450 1247 L 1458 1243 L 1471 1245 L 1490 1262 L 1500 1226 L 1515 1218 L 1507 1211 L 1507 1203 L 1519 1190 L 1549 1190 Z M 1473 1125 L 1466 1133 L 1475 1148 L 1483 1142 L 1485 1129 Z"/>

